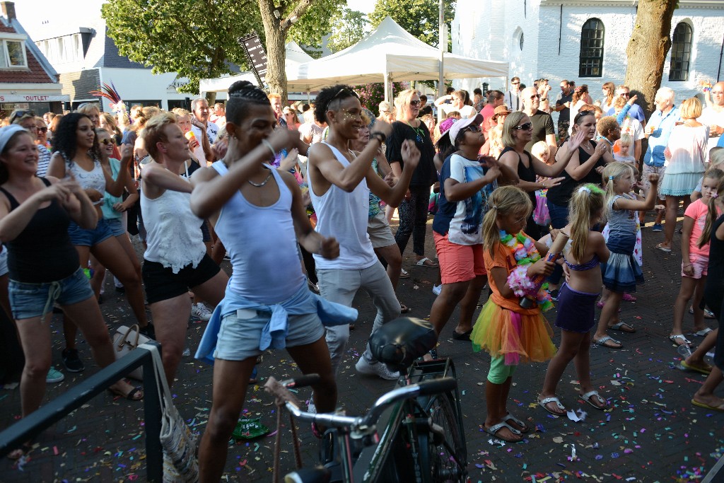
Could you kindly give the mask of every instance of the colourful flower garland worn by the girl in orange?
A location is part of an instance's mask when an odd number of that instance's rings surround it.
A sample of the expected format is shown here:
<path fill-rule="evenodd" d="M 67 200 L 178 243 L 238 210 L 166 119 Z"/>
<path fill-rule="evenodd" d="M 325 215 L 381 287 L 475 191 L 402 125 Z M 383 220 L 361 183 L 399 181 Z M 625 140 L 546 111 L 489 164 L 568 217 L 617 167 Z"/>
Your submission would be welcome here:
<path fill-rule="evenodd" d="M 538 287 L 528 277 L 528 266 L 541 259 L 533 239 L 524 235 L 523 232 L 510 235 L 505 230 L 500 230 L 500 243 L 510 249 L 518 263 L 518 266 L 508 274 L 508 286 L 513 289 L 513 293 L 518 297 L 535 298 L 538 306 L 544 312 L 553 308 L 548 284 L 544 283 Z"/>

